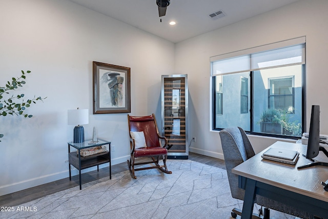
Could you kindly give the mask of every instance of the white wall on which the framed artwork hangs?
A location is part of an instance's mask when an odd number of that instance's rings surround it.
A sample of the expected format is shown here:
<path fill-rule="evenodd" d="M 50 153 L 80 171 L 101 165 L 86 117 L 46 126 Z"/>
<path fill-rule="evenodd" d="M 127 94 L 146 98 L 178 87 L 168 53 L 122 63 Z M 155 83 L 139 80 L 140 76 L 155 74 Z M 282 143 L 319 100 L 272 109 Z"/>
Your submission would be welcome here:
<path fill-rule="evenodd" d="M 68 177 L 68 109 L 89 109 L 86 138 L 95 126 L 115 145 L 112 164 L 126 162 L 127 113 L 92 114 L 92 61 L 130 67 L 131 114 L 160 118 L 161 75 L 174 73 L 174 44 L 61 0 L 1 1 L 0 29 L 0 86 L 30 70 L 18 93 L 47 97 L 28 109 L 32 118 L 0 116 L 0 195 Z"/>

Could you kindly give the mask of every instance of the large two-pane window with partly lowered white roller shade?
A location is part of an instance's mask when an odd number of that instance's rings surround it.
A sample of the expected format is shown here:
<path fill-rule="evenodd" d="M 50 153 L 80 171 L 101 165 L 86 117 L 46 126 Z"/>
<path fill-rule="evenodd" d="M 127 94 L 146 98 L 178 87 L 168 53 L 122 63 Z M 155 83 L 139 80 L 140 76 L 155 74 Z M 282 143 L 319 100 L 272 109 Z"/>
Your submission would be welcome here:
<path fill-rule="evenodd" d="M 239 126 L 258 135 L 302 135 L 305 37 L 214 56 L 211 67 L 213 130 Z"/>

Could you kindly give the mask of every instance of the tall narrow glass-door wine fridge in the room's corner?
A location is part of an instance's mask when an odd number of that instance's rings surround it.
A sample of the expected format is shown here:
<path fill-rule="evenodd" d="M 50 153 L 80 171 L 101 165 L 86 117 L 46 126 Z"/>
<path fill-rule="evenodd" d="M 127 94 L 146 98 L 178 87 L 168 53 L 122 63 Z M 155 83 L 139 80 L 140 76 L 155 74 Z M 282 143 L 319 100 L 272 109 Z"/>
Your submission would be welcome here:
<path fill-rule="evenodd" d="M 188 77 L 162 75 L 161 132 L 169 140 L 168 157 L 188 159 Z"/>

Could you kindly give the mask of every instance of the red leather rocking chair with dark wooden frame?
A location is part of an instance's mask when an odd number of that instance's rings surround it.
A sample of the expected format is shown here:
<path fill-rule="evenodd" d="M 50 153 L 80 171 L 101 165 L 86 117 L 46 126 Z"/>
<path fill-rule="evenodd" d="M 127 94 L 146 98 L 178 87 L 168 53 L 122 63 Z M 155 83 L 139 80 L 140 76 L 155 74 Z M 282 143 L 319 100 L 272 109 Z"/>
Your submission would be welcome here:
<path fill-rule="evenodd" d="M 128 167 L 132 178 L 137 178 L 134 174 L 135 171 L 138 170 L 146 170 L 158 168 L 162 172 L 171 174 L 171 171 L 168 171 L 166 166 L 166 160 L 168 157 L 168 139 L 166 137 L 160 136 L 158 133 L 155 115 L 147 115 L 147 116 L 130 116 L 128 115 L 129 122 L 129 134 L 130 134 L 130 148 L 131 148 L 131 156 L 130 161 L 128 160 Z M 146 147 L 137 148 L 136 146 L 136 138 L 131 136 L 131 132 L 144 132 Z M 134 133 L 132 133 L 134 134 Z M 142 134 L 142 133 L 141 133 Z M 143 138 L 143 135 L 142 135 Z M 161 140 L 165 141 L 165 145 L 161 146 Z M 138 146 L 140 147 L 140 146 Z M 151 160 L 145 159 L 145 157 L 151 158 Z M 137 159 L 142 160 L 139 163 L 136 163 L 136 158 L 144 158 Z M 163 165 L 159 165 L 159 160 L 163 160 Z M 145 164 L 155 164 L 155 166 L 150 167 L 142 167 L 136 169 L 136 165 L 145 165 Z"/>

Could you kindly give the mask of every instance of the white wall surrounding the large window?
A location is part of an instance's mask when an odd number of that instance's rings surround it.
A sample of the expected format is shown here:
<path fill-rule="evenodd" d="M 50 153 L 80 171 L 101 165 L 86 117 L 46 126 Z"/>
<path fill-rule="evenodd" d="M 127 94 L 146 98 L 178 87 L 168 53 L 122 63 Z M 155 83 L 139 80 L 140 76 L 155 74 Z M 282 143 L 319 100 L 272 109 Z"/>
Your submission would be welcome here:
<path fill-rule="evenodd" d="M 190 151 L 223 158 L 219 134 L 210 131 L 210 57 L 299 36 L 306 36 L 307 126 L 311 105 L 320 105 L 320 131 L 328 133 L 327 10 L 326 0 L 298 1 L 176 44 L 175 72 L 188 73 L 189 80 L 189 136 L 197 139 Z M 250 140 L 259 152 L 278 139 L 250 136 Z"/>

